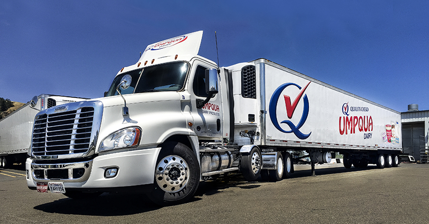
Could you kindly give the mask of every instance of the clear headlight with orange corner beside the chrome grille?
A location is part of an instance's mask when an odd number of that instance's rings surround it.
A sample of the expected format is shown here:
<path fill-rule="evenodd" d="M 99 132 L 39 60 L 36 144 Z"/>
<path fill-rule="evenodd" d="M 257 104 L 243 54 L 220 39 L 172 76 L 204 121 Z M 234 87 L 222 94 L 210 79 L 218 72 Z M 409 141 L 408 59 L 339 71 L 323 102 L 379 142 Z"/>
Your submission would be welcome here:
<path fill-rule="evenodd" d="M 139 144 L 141 133 L 142 129 L 139 127 L 127 127 L 118 130 L 103 139 L 98 151 L 136 146 Z"/>

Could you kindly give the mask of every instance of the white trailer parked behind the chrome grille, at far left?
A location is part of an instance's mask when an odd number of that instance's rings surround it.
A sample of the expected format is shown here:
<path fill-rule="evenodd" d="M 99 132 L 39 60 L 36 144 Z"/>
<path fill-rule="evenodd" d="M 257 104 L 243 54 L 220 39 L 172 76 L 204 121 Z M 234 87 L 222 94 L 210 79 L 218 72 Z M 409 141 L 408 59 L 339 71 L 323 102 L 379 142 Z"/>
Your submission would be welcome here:
<path fill-rule="evenodd" d="M 81 100 L 84 99 L 41 94 L 0 119 L 0 167 L 7 168 L 13 163 L 25 162 L 37 112 Z"/>

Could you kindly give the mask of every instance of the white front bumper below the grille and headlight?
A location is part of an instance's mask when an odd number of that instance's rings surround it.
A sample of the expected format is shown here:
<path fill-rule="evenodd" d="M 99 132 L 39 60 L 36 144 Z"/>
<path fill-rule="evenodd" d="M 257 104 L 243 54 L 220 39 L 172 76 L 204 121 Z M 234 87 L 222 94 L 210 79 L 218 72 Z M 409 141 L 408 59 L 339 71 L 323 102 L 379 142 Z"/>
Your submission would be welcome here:
<path fill-rule="evenodd" d="M 28 158 L 25 163 L 27 186 L 35 190 L 37 182 L 63 182 L 66 190 L 96 190 L 153 184 L 160 150 L 116 152 L 76 163 L 40 164 Z M 118 168 L 117 175 L 106 178 L 106 169 L 112 167 Z"/>

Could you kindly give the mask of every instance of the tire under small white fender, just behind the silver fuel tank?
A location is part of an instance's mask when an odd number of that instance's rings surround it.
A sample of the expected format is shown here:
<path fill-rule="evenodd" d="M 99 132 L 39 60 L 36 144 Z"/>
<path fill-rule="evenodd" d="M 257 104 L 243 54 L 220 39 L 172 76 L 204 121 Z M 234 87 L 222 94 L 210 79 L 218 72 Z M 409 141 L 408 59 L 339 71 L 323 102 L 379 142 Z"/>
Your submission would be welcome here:
<path fill-rule="evenodd" d="M 259 148 L 253 147 L 250 153 L 241 155 L 241 172 L 247 181 L 255 181 L 262 168 L 262 156 Z"/>

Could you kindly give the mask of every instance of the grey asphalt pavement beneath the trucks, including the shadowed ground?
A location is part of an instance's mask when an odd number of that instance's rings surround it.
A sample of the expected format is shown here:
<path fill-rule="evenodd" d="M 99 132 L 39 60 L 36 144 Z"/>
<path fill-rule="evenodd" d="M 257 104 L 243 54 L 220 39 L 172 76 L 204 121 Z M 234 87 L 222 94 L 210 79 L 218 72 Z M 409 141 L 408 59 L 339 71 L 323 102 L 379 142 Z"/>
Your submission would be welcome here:
<path fill-rule="evenodd" d="M 27 188 L 22 166 L 0 169 L 1 224 L 303 223 L 427 224 L 429 164 L 345 169 L 295 166 L 290 179 L 247 182 L 227 174 L 201 182 L 190 202 L 161 208 L 146 196 L 107 194 L 73 200 Z"/>

